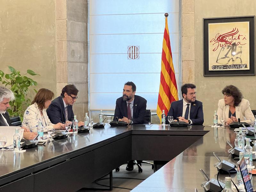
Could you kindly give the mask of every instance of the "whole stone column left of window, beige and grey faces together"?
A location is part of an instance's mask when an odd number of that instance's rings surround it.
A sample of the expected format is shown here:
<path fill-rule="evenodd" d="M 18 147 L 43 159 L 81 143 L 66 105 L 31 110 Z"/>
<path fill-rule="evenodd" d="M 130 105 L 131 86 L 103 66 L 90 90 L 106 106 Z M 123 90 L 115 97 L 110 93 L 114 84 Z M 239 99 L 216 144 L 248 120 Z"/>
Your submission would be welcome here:
<path fill-rule="evenodd" d="M 87 0 L 56 0 L 57 95 L 75 84 L 79 98 L 73 105 L 79 121 L 88 111 L 88 7 Z"/>

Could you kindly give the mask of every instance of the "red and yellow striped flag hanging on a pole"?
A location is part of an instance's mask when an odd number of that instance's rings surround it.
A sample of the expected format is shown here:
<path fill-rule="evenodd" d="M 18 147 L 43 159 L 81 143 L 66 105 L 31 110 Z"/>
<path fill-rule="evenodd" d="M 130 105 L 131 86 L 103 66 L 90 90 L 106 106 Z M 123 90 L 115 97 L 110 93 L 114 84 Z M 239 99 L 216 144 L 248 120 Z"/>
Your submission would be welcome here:
<path fill-rule="evenodd" d="M 167 22 L 167 17 L 165 17 L 164 40 L 163 40 L 162 61 L 161 61 L 161 76 L 160 76 L 157 108 L 156 108 L 156 113 L 160 119 L 160 122 L 161 122 L 162 110 L 164 109 L 165 115 L 167 115 L 171 107 L 172 101 L 177 101 L 177 100 L 178 100 L 178 90 L 177 90 L 177 84 L 175 79 L 174 67 L 172 63 L 172 50 L 171 50 L 168 22 Z"/>

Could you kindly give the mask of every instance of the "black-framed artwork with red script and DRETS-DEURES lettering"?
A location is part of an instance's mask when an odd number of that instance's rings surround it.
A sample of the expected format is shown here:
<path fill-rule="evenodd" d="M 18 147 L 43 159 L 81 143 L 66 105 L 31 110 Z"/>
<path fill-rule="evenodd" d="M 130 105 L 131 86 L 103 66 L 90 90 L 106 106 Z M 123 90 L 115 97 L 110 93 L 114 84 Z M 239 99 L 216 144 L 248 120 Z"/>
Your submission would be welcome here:
<path fill-rule="evenodd" d="M 204 18 L 204 76 L 255 75 L 254 17 Z"/>

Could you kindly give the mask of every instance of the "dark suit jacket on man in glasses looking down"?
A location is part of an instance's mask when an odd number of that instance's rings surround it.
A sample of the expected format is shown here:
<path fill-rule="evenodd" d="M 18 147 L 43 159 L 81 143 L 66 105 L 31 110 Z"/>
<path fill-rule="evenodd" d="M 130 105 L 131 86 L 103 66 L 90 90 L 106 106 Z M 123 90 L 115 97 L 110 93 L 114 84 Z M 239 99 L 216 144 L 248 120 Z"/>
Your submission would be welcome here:
<path fill-rule="evenodd" d="M 46 110 L 50 121 L 53 124 L 63 123 L 66 121 L 66 114 L 63 99 L 61 96 L 55 98 Z M 68 105 L 68 121 L 74 120 L 72 105 Z"/>

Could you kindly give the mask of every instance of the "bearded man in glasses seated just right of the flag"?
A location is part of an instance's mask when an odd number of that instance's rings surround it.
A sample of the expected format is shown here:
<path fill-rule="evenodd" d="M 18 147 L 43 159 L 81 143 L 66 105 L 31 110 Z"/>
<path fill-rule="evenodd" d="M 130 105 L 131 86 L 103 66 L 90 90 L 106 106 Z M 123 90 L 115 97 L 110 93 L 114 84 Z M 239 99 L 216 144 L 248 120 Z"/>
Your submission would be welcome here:
<path fill-rule="evenodd" d="M 177 121 L 184 121 L 190 125 L 201 125 L 204 123 L 203 103 L 196 100 L 196 85 L 184 84 L 181 86 L 182 100 L 173 101 L 171 108 L 166 116 L 166 124 L 168 116 L 173 116 Z"/>

